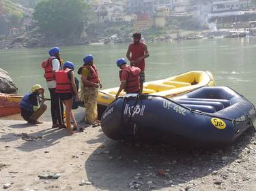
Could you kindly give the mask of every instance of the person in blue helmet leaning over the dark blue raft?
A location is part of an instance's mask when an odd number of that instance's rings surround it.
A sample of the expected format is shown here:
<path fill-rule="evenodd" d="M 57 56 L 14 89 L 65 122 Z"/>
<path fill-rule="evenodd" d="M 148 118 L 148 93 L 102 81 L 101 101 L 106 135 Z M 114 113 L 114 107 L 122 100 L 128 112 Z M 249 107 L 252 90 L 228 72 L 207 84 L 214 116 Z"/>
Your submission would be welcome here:
<path fill-rule="evenodd" d="M 117 60 L 117 67 L 121 70 L 119 71 L 119 77 L 121 84 L 119 86 L 119 90 L 115 95 L 115 99 L 119 97 L 120 92 L 124 90 L 126 93 L 139 93 L 140 90 L 140 79 L 139 75 L 141 73 L 141 69 L 139 67 L 132 67 L 126 65 L 126 59 L 120 58 Z"/>

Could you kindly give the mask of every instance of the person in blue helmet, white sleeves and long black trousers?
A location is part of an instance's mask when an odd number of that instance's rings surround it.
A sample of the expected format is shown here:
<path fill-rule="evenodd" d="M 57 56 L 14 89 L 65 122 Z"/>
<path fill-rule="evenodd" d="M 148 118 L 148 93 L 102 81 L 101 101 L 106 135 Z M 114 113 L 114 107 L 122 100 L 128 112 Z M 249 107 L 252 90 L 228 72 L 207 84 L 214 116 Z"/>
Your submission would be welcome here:
<path fill-rule="evenodd" d="M 42 63 L 42 68 L 44 69 L 44 77 L 51 97 L 52 128 L 65 128 L 66 126 L 63 122 L 63 105 L 55 93 L 55 71 L 61 69 L 63 60 L 60 57 L 60 50 L 57 47 L 51 48 L 49 55 L 50 57 Z"/>

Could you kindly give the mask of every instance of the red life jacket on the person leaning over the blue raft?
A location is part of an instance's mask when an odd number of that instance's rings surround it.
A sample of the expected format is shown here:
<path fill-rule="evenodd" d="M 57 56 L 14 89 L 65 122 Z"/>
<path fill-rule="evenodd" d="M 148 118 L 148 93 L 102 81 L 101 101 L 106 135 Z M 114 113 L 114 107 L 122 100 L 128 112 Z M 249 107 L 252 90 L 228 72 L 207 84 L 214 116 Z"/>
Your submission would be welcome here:
<path fill-rule="evenodd" d="M 141 69 L 138 67 L 126 67 L 119 71 L 119 77 L 121 80 L 122 72 L 128 73 L 128 78 L 126 80 L 126 87 L 124 91 L 126 93 L 135 93 L 140 90 L 140 82 L 139 82 L 139 73 L 141 73 Z"/>

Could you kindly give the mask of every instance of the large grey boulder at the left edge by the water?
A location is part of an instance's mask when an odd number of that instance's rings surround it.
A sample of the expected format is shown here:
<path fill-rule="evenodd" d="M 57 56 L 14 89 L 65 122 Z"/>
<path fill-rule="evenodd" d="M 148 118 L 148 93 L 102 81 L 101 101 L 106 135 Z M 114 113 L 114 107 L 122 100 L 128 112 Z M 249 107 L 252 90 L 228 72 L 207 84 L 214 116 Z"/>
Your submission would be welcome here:
<path fill-rule="evenodd" d="M 12 93 L 17 90 L 18 88 L 15 86 L 8 72 L 0 68 L 0 92 Z"/>

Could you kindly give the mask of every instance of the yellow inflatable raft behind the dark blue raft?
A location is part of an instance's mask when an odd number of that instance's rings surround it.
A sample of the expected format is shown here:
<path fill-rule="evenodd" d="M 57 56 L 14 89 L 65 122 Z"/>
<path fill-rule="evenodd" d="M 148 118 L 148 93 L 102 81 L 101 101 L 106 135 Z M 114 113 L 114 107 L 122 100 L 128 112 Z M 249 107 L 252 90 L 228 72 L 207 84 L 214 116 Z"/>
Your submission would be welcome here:
<path fill-rule="evenodd" d="M 143 84 L 143 93 L 170 98 L 185 94 L 201 86 L 215 86 L 212 73 L 209 71 L 188 71 L 164 80 L 145 82 Z M 99 117 L 106 109 L 106 106 L 115 100 L 115 94 L 117 94 L 118 89 L 119 87 L 100 90 L 98 94 Z M 120 96 L 124 94 L 126 93 L 122 91 Z"/>

